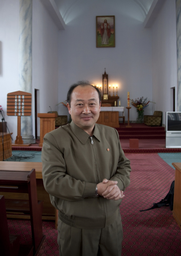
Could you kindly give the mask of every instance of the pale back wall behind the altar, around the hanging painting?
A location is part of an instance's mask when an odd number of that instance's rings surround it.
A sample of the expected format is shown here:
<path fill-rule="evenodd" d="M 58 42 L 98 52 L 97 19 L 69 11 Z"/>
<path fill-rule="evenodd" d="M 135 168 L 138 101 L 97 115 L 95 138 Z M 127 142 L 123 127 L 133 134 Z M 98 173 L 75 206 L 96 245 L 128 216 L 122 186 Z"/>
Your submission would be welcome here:
<path fill-rule="evenodd" d="M 71 5 L 72 2 L 72 5 Z M 118 84 L 121 106 L 130 98 L 152 100 L 151 30 L 144 29 L 144 16 L 134 1 L 61 1 L 66 29 L 59 31 L 58 102 L 66 99 L 69 86 L 79 80 L 102 84 L 104 68 L 110 84 Z M 96 16 L 115 15 L 115 47 L 96 48 Z M 111 95 L 113 94 L 113 90 Z M 64 106 L 59 113 L 67 114 Z M 152 106 L 145 109 L 152 113 Z M 136 120 L 136 109 L 130 120 Z M 127 110 L 125 109 L 125 119 Z"/>

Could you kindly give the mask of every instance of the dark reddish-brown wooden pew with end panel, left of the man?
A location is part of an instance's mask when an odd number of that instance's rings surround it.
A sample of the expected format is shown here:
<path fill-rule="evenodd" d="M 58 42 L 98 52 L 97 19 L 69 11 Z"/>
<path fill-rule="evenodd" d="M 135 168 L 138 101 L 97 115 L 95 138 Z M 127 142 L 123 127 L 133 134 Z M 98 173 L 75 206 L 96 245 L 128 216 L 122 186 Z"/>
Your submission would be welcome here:
<path fill-rule="evenodd" d="M 35 169 L 31 171 L 0 171 L 0 192 L 27 193 L 29 200 L 5 198 L 6 211 L 22 212 L 30 214 L 32 246 L 27 246 L 28 254 L 21 252 L 20 255 L 36 255 L 44 236 L 42 231 L 42 201 L 37 199 Z M 21 248 L 20 248 L 21 249 Z M 25 248 L 23 248 L 25 251 Z M 32 254 L 33 252 L 33 254 Z"/>

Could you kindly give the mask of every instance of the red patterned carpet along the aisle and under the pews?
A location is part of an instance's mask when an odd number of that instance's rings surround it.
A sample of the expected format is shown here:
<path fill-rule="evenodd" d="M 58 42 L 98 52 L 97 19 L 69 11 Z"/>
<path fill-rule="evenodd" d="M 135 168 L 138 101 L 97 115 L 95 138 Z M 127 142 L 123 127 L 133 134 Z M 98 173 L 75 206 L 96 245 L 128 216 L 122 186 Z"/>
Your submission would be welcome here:
<path fill-rule="evenodd" d="M 131 160 L 131 184 L 120 206 L 124 239 L 122 256 L 180 256 L 181 230 L 169 208 L 139 212 L 167 194 L 175 171 L 156 153 L 125 154 Z M 11 234 L 20 234 L 21 242 L 30 241 L 29 220 L 8 220 Z M 43 221 L 46 239 L 37 256 L 57 256 L 57 230 Z"/>

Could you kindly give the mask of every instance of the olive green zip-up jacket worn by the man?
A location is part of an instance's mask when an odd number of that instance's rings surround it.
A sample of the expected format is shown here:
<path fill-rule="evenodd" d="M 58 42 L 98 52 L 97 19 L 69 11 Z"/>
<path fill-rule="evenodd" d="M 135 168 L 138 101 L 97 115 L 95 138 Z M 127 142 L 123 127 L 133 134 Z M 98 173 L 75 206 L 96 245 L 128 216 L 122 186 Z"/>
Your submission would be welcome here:
<path fill-rule="evenodd" d="M 120 190 L 130 183 L 130 161 L 121 149 L 114 128 L 95 124 L 91 138 L 71 122 L 47 133 L 42 147 L 42 176 L 60 219 L 75 227 L 98 228 L 111 224 L 121 200 L 94 197 L 103 179 L 117 180 Z"/>

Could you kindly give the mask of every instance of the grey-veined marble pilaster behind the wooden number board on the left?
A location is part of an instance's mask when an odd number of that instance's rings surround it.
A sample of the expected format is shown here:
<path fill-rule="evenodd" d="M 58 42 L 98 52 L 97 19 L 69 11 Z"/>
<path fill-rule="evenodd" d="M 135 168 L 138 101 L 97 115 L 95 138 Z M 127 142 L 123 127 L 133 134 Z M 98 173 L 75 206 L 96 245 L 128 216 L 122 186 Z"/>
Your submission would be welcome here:
<path fill-rule="evenodd" d="M 19 13 L 19 87 L 32 94 L 32 0 L 20 0 Z M 32 115 L 21 117 L 24 144 L 35 143 L 32 135 Z"/>

